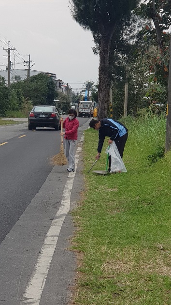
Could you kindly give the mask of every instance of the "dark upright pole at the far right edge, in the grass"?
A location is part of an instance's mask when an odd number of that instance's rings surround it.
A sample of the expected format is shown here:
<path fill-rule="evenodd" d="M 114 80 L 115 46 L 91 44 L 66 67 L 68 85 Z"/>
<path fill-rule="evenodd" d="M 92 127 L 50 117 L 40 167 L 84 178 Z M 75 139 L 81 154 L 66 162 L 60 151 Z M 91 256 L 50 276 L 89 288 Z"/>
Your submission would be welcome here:
<path fill-rule="evenodd" d="M 170 35 L 171 37 L 171 35 Z M 170 40 L 170 62 L 169 62 L 169 80 L 168 80 L 168 103 L 166 119 L 166 152 L 171 150 L 171 40 Z"/>

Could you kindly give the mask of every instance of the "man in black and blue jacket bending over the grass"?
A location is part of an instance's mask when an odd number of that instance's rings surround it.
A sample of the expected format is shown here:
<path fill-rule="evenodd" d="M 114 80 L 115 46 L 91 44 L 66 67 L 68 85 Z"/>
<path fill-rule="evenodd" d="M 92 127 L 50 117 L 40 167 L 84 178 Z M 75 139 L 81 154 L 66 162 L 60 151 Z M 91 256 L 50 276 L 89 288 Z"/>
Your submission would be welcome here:
<path fill-rule="evenodd" d="M 99 130 L 99 145 L 96 159 L 99 159 L 100 157 L 105 137 L 110 137 L 108 141 L 109 144 L 113 141 L 115 142 L 121 158 L 123 157 L 125 143 L 128 138 L 128 129 L 124 124 L 113 119 L 102 119 L 100 121 L 93 119 L 90 121 L 89 126 L 90 128 Z M 109 156 L 108 170 L 111 170 L 111 156 Z"/>

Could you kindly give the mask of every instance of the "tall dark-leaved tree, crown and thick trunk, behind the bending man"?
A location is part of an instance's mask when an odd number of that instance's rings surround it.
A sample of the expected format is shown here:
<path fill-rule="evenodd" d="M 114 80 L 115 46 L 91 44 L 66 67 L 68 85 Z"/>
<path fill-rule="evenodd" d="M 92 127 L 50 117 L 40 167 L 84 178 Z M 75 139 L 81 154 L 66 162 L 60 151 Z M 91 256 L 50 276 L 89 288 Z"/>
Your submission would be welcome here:
<path fill-rule="evenodd" d="M 108 116 L 112 80 L 111 43 L 119 23 L 129 18 L 140 0 L 71 0 L 71 14 L 90 30 L 100 48 L 98 119 Z"/>

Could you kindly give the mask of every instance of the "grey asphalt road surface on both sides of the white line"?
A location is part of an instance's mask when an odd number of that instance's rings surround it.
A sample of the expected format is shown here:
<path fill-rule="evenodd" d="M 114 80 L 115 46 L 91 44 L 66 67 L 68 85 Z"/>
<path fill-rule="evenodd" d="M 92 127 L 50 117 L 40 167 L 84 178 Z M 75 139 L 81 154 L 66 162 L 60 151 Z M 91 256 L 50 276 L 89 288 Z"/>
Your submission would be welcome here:
<path fill-rule="evenodd" d="M 89 119 L 78 119 L 79 140 Z M 66 167 L 53 168 L 49 164 L 49 157 L 60 149 L 59 133 L 48 128 L 28 131 L 27 123 L 0 127 L 0 144 L 5 143 L 0 145 L 0 304 L 21 304 L 44 238 L 61 204 L 68 172 Z M 80 160 L 71 206 L 83 187 L 81 170 Z M 67 302 L 75 272 L 74 254 L 66 251 L 73 229 L 69 214 L 60 231 L 40 305 Z"/>

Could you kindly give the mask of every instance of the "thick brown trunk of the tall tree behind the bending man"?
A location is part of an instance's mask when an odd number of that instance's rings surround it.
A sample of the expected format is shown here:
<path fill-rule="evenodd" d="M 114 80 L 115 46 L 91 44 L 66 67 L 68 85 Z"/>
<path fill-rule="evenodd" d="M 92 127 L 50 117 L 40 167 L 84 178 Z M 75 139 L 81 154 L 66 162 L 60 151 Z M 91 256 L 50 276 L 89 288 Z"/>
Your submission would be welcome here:
<path fill-rule="evenodd" d="M 112 80 L 112 67 L 109 63 L 111 48 L 111 37 L 101 38 L 100 65 L 99 65 L 99 105 L 97 119 L 108 117 L 109 112 L 109 91 Z"/>

